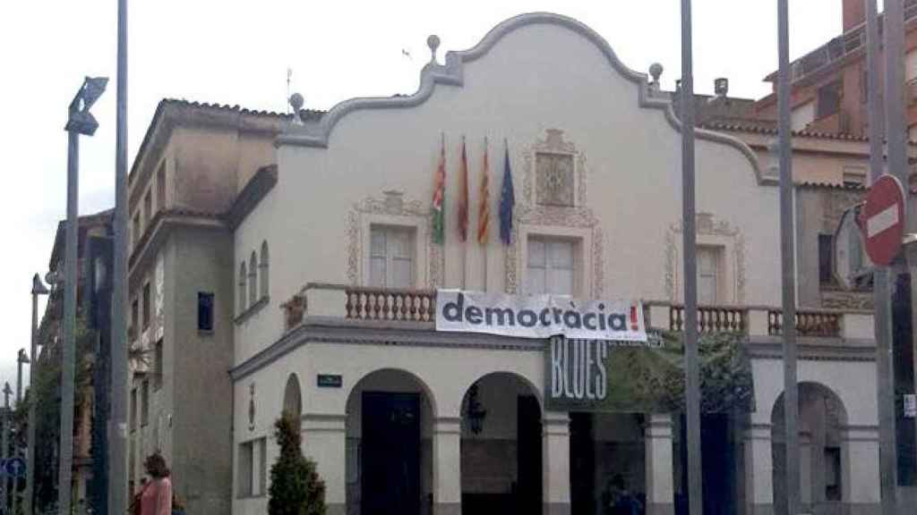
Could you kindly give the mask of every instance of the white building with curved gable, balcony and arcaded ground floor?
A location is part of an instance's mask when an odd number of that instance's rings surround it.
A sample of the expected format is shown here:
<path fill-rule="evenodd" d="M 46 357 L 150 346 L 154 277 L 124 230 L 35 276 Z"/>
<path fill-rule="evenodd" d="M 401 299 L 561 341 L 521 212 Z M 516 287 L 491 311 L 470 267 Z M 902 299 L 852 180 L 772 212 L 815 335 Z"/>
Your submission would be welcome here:
<path fill-rule="evenodd" d="M 549 411 L 545 341 L 436 332 L 430 318 L 437 288 L 558 293 L 642 299 L 649 325 L 678 330 L 671 105 L 564 16 L 514 17 L 444 64 L 430 44 L 417 93 L 352 99 L 290 126 L 276 142 L 276 185 L 235 229 L 233 513 L 266 512 L 284 410 L 301 421 L 329 513 L 602 514 L 622 491 L 643 512 L 678 512 L 688 492 L 677 414 Z M 499 237 L 504 152 L 509 245 Z M 705 422 L 705 498 L 711 513 L 780 513 L 781 338 L 779 308 L 768 308 L 780 299 L 776 181 L 745 144 L 699 131 L 696 191 L 702 330 L 747 335 L 755 397 L 755 411 Z M 871 313 L 801 312 L 799 326 L 803 502 L 877 513 Z"/>

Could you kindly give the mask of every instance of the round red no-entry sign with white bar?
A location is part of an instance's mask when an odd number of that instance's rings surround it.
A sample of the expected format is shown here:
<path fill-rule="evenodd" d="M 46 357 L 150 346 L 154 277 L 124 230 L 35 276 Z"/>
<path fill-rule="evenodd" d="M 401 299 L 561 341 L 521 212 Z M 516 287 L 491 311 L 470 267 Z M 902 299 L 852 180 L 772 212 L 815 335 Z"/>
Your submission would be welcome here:
<path fill-rule="evenodd" d="M 869 258 L 888 266 L 898 255 L 904 236 L 904 188 L 898 179 L 883 175 L 869 188 L 860 227 Z"/>

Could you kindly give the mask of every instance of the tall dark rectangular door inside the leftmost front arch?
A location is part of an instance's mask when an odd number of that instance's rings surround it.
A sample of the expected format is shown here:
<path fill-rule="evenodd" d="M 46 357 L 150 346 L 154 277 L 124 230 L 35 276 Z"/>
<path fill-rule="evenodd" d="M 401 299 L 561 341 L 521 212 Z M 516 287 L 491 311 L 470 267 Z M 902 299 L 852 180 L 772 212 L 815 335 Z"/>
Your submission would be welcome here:
<path fill-rule="evenodd" d="M 363 392 L 362 515 L 420 513 L 420 398 Z"/>

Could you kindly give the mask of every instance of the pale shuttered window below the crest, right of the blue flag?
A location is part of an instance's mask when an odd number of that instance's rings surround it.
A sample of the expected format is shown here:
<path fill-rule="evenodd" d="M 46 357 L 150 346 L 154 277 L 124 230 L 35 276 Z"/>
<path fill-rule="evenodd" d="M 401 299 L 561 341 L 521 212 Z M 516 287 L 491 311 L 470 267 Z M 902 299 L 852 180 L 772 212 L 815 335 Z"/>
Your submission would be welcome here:
<path fill-rule="evenodd" d="M 527 293 L 573 295 L 576 287 L 576 242 L 570 239 L 528 240 Z"/>

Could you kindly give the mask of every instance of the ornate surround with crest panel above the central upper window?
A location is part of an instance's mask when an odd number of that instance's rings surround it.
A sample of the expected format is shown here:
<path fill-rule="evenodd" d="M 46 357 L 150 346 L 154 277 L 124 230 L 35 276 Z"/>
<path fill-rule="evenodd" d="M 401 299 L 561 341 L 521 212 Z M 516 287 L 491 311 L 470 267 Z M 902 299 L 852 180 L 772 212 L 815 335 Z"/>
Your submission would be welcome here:
<path fill-rule="evenodd" d="M 516 162 L 521 161 L 523 165 L 523 194 L 521 198 L 516 197 L 520 202 L 514 209 L 513 234 L 504 254 L 505 290 L 507 293 L 519 290 L 519 225 L 587 228 L 591 229 L 592 240 L 591 248 L 584 249 L 590 253 L 587 262 L 592 268 L 589 295 L 599 298 L 604 290 L 605 275 L 603 234 L 599 219 L 586 207 L 586 158 L 573 143 L 564 140 L 563 131 L 547 129 L 546 133 L 545 139 L 521 148 L 515 156 Z M 549 165 L 561 161 L 563 164 L 558 165 L 561 170 L 549 170 Z M 550 177 L 552 174 L 563 177 Z"/>

